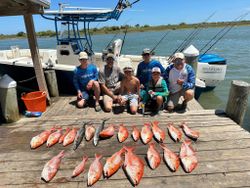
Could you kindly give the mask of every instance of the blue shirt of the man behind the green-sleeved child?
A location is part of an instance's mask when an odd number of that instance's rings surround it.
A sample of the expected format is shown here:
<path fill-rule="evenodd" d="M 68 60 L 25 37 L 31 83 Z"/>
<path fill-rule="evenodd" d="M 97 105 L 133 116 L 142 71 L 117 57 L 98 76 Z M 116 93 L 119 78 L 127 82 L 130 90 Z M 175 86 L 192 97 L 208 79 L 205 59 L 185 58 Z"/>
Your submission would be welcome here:
<path fill-rule="evenodd" d="M 161 75 L 164 76 L 165 69 L 159 61 L 151 60 L 149 63 L 144 63 L 144 61 L 139 63 L 137 67 L 136 77 L 144 86 L 146 86 L 151 79 L 151 71 L 154 67 L 159 67 L 161 69 Z"/>

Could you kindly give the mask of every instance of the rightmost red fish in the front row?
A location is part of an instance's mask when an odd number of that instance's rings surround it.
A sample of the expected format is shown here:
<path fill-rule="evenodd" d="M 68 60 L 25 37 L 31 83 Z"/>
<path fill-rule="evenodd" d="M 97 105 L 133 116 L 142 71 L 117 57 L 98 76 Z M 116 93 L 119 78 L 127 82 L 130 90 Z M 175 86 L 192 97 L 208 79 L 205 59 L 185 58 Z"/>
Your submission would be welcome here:
<path fill-rule="evenodd" d="M 184 141 L 181 145 L 180 159 L 185 172 L 192 172 L 198 164 L 198 160 L 193 148 L 190 146 L 191 141 Z"/>

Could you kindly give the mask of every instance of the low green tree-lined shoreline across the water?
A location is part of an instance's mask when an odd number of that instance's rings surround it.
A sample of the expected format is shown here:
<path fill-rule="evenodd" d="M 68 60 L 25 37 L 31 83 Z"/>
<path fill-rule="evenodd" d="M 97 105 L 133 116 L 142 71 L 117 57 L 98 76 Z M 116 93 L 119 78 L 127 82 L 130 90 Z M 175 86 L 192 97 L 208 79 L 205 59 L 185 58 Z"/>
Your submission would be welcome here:
<path fill-rule="evenodd" d="M 235 26 L 242 26 L 242 25 L 250 25 L 249 20 L 243 20 L 240 22 L 209 22 L 209 23 L 194 23 L 194 24 L 187 24 L 185 22 L 175 24 L 175 25 L 158 25 L 158 26 L 150 26 L 148 24 L 140 25 L 122 25 L 122 26 L 104 26 L 101 28 L 91 28 L 91 34 L 107 34 L 107 33 L 116 33 L 117 31 L 123 31 L 125 29 L 128 32 L 145 32 L 145 31 L 158 31 L 158 30 L 176 30 L 176 29 L 188 29 L 188 28 L 209 28 L 209 27 L 225 27 L 228 25 L 235 25 Z M 84 30 L 80 30 L 80 33 L 83 34 Z M 36 33 L 37 37 L 54 37 L 56 36 L 56 32 L 52 30 L 47 31 L 39 31 Z M 26 33 L 20 31 L 16 34 L 11 35 L 4 35 L 0 34 L 0 39 L 7 39 L 7 38 L 24 38 L 26 37 Z"/>

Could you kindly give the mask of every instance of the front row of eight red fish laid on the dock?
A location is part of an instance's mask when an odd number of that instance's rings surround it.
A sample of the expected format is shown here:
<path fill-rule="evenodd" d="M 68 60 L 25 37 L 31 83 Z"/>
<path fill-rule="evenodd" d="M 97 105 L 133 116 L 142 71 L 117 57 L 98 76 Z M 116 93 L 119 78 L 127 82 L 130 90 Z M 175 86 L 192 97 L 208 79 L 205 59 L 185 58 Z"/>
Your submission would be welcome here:
<path fill-rule="evenodd" d="M 191 141 L 184 141 L 180 149 L 180 155 L 172 152 L 164 144 L 160 144 L 163 149 L 164 161 L 173 172 L 177 171 L 182 163 L 185 172 L 192 172 L 198 164 L 196 154 L 193 148 L 190 146 Z M 106 163 L 103 166 L 101 163 L 102 155 L 95 155 L 94 161 L 91 163 L 88 171 L 88 186 L 95 184 L 102 176 L 105 178 L 111 177 L 115 174 L 120 167 L 123 167 L 126 176 L 133 186 L 137 186 L 140 183 L 144 174 L 144 161 L 133 152 L 133 147 L 124 146 L 121 150 L 114 153 L 111 157 L 106 159 Z M 123 159 L 123 155 L 125 157 Z M 60 152 L 57 156 L 53 157 L 47 162 L 42 171 L 41 179 L 45 182 L 49 182 L 56 175 L 61 159 L 64 156 L 64 151 Z M 85 165 L 88 157 L 83 156 L 83 159 L 79 165 L 77 165 L 73 171 L 72 178 L 78 176 L 85 170 Z M 161 163 L 160 153 L 157 151 L 154 143 L 149 144 L 147 151 L 147 161 L 151 169 L 156 169 Z"/>

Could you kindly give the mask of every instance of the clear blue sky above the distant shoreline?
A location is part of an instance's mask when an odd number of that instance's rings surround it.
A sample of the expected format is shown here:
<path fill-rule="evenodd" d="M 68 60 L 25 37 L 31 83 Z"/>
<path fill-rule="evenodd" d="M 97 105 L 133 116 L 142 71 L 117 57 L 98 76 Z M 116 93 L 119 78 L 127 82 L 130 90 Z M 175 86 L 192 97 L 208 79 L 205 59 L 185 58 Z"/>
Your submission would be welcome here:
<path fill-rule="evenodd" d="M 116 0 L 51 0 L 51 9 L 58 9 L 58 3 L 71 6 L 112 8 Z M 214 11 L 210 21 L 230 21 L 250 11 L 249 0 L 140 0 L 130 10 L 125 10 L 118 21 L 108 21 L 99 25 L 161 25 L 197 23 L 204 21 Z M 245 18 L 250 20 L 250 14 Z M 52 21 L 34 16 L 36 31 L 54 30 Z M 0 17 L 0 34 L 25 32 L 22 16 Z M 93 24 L 93 27 L 96 24 Z M 4 26 L 4 27 L 3 27 Z"/>

